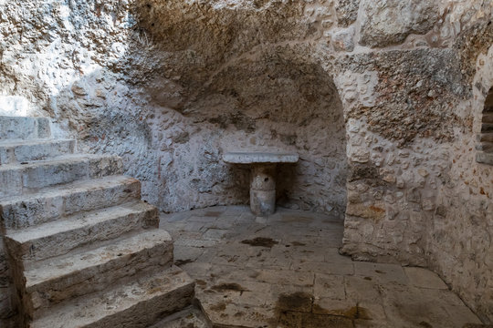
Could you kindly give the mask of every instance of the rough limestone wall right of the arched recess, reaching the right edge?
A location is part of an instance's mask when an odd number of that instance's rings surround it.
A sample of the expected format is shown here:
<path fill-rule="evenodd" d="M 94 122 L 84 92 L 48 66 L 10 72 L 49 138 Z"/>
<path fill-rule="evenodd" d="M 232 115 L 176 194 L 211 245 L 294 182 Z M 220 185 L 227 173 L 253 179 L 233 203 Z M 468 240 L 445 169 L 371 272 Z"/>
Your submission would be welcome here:
<path fill-rule="evenodd" d="M 429 266 L 491 322 L 493 171 L 475 146 L 492 81 L 492 4 L 422 1 L 415 25 L 404 2 L 369 4 L 355 51 L 374 50 L 345 57 L 335 78 L 349 135 L 342 251 Z"/>

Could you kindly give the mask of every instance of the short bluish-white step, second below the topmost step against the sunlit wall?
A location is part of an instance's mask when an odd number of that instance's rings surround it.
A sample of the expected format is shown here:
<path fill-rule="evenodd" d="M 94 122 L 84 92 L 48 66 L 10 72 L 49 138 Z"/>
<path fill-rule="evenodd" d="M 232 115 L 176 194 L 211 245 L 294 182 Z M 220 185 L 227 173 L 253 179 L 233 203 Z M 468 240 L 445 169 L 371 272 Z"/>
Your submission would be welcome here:
<path fill-rule="evenodd" d="M 0 165 L 73 154 L 75 140 L 7 140 L 0 142 Z"/>

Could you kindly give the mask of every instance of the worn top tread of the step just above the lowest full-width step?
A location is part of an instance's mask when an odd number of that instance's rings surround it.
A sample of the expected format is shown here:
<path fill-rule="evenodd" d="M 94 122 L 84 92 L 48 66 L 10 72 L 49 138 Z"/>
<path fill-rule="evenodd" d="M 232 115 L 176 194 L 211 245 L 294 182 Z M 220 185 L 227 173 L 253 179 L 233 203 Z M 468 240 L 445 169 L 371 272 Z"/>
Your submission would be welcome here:
<path fill-rule="evenodd" d="M 130 237 L 122 236 L 98 248 L 76 249 L 55 258 L 29 263 L 25 272 L 26 288 L 58 279 L 70 272 L 83 271 L 120 256 L 152 248 L 155 244 L 164 241 L 172 241 L 170 234 L 161 229 L 152 229 Z"/>

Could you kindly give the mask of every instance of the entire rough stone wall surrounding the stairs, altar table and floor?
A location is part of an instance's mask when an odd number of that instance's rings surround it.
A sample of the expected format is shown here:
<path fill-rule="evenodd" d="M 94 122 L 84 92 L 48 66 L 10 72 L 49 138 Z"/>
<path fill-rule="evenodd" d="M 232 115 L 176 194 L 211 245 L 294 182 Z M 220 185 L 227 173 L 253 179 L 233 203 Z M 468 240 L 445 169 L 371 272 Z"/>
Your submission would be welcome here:
<path fill-rule="evenodd" d="M 0 94 L 27 97 L 83 150 L 121 155 L 144 199 L 165 211 L 246 203 L 248 170 L 221 155 L 298 151 L 279 170 L 280 204 L 346 209 L 342 251 L 432 266 L 493 320 L 492 170 L 474 160 L 491 2 L 0 9 Z"/>

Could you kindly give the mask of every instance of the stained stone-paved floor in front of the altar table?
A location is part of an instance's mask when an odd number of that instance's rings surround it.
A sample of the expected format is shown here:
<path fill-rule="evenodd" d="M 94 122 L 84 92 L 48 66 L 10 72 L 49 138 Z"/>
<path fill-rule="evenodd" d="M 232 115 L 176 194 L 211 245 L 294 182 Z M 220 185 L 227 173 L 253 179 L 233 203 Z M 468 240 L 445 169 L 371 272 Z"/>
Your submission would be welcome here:
<path fill-rule="evenodd" d="M 161 227 L 217 327 L 481 323 L 433 272 L 341 256 L 341 220 L 324 214 L 278 209 L 264 220 L 245 206 L 215 207 L 164 214 Z"/>

